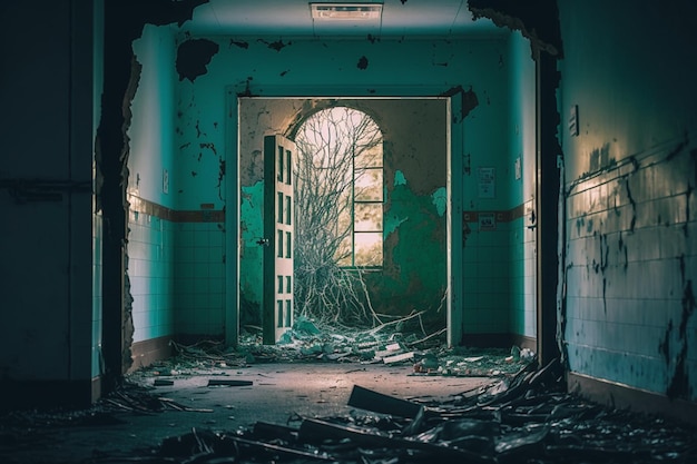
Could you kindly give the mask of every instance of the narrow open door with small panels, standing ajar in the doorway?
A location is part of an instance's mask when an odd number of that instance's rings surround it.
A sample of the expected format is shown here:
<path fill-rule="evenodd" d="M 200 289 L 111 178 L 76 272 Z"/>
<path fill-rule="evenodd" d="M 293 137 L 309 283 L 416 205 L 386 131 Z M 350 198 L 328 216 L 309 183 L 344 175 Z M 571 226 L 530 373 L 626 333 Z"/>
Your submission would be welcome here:
<path fill-rule="evenodd" d="M 293 325 L 293 160 L 295 144 L 264 137 L 263 339 L 275 344 Z"/>

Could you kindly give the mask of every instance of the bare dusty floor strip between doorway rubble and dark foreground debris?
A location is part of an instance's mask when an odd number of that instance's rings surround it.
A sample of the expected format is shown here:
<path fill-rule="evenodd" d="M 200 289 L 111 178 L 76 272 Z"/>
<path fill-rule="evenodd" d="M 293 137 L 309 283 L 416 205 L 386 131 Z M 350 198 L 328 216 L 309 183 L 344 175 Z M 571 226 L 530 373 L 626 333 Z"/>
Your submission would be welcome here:
<path fill-rule="evenodd" d="M 226 375 L 220 375 L 220 374 Z M 53 426 L 27 430 L 13 443 L 0 446 L 0 462 L 87 463 L 108 462 L 134 451 L 153 448 L 170 436 L 197 431 L 234 431 L 256 422 L 286 424 L 293 414 L 303 417 L 348 415 L 346 405 L 354 385 L 405 399 L 444 401 L 497 381 L 494 377 L 414 375 L 413 366 L 382 364 L 258 364 L 244 368 L 210 369 L 196 375 L 154 377 L 134 375 L 143 385 L 156 378 L 174 379 L 151 394 L 176 404 L 210 412 L 165 411 L 143 414 L 111 412 L 118 424 Z M 209 379 L 251 381 L 251 386 L 208 386 Z M 355 411 L 355 409 L 353 409 Z M 370 414 L 360 411 L 359 414 Z M 7 440 L 4 440 L 7 442 Z M 111 461 L 115 462 L 115 461 Z"/>

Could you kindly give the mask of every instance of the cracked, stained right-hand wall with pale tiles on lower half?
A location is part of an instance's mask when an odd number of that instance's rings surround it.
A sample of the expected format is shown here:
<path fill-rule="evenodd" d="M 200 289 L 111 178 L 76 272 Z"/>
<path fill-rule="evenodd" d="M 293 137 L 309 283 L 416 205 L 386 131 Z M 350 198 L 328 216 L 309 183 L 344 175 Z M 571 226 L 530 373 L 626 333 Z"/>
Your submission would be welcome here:
<path fill-rule="evenodd" d="M 693 402 L 696 13 L 689 2 L 561 1 L 559 62 L 569 368 Z M 573 105 L 578 136 L 566 125 Z"/>

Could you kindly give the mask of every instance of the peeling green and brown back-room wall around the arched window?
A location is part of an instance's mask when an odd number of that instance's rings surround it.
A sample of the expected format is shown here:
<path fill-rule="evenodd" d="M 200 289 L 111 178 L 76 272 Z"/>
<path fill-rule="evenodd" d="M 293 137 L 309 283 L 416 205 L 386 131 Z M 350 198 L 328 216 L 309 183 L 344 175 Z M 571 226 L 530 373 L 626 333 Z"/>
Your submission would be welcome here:
<path fill-rule="evenodd" d="M 238 327 L 245 334 L 263 325 L 263 139 L 295 140 L 307 120 L 333 108 L 366 115 L 383 140 L 382 259 L 362 268 L 360 290 L 370 299 L 363 303 L 381 320 L 420 314 L 414 320 L 424 330 L 444 332 L 451 310 L 449 98 L 238 98 Z"/>

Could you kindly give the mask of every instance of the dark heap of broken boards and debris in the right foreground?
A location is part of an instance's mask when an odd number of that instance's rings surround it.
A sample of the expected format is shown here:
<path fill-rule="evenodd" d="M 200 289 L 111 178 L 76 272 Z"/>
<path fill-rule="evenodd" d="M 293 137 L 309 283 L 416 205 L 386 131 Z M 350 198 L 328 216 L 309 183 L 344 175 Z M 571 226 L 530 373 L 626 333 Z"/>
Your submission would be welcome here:
<path fill-rule="evenodd" d="M 559 364 L 446 402 L 416 402 L 355 385 L 347 416 L 289 416 L 235 431 L 196 430 L 145 454 L 91 463 L 691 463 L 695 431 L 567 394 Z"/>

